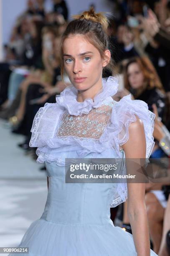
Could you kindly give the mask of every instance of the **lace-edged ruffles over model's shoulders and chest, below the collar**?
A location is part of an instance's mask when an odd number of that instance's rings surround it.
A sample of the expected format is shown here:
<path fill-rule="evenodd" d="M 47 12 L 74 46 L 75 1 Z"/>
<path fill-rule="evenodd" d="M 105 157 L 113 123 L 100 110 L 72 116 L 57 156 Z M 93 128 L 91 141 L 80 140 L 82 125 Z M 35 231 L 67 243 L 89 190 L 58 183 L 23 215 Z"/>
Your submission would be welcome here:
<path fill-rule="evenodd" d="M 149 158 L 155 144 L 152 136 L 155 114 L 148 110 L 142 100 L 132 100 L 131 95 L 124 96 L 119 102 L 114 102 L 108 125 L 99 139 L 81 138 L 76 136 L 57 136 L 63 109 L 57 103 L 46 103 L 38 110 L 31 129 L 30 147 L 38 147 L 37 162 L 58 161 L 61 152 L 78 150 L 78 157 L 84 158 L 90 153 L 101 154 L 111 148 L 121 157 L 119 145 L 129 138 L 129 125 L 136 121 L 137 115 L 144 125 L 146 138 L 146 158 Z"/>

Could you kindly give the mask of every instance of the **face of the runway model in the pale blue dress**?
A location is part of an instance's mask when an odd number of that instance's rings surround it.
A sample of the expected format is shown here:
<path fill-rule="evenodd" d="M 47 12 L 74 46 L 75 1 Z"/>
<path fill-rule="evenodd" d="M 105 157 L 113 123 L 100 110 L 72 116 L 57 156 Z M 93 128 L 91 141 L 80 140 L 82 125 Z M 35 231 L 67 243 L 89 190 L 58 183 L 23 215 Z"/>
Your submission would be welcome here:
<path fill-rule="evenodd" d="M 66 73 L 77 90 L 86 90 L 96 84 L 107 65 L 98 49 L 81 35 L 70 35 L 64 40 L 63 61 Z"/>

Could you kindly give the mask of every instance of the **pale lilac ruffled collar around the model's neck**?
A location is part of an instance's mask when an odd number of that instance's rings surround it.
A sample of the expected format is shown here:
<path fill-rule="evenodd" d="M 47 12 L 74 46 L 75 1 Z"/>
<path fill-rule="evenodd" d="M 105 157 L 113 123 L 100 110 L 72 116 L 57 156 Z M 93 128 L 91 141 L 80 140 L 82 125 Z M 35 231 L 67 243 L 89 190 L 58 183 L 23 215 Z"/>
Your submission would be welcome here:
<path fill-rule="evenodd" d="M 88 114 L 92 108 L 101 106 L 101 102 L 109 96 L 113 96 L 118 90 L 118 79 L 116 77 L 102 78 L 102 89 L 95 95 L 94 100 L 86 98 L 84 102 L 78 102 L 78 90 L 74 85 L 69 85 L 56 96 L 56 102 L 63 108 L 67 109 L 70 115 Z M 59 96 L 59 97 L 58 97 Z"/>

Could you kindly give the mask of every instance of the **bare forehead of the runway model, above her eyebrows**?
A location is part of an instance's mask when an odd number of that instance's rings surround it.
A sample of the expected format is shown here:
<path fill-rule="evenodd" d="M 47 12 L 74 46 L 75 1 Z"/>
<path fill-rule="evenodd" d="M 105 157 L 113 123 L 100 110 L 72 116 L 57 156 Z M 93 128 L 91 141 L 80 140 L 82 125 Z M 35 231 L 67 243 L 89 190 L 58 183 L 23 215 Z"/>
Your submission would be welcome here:
<path fill-rule="evenodd" d="M 64 54 L 77 55 L 86 51 L 99 52 L 83 35 L 70 35 L 63 41 Z"/>

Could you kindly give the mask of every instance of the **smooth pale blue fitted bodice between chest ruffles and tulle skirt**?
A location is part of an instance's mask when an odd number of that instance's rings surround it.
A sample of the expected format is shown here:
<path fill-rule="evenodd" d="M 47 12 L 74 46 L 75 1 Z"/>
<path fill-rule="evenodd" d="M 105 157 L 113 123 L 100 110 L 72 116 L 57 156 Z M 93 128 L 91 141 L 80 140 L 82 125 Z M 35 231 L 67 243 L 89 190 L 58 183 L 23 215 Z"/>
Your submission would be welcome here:
<path fill-rule="evenodd" d="M 107 150 L 105 154 L 116 155 L 113 150 Z M 76 155 L 77 152 L 72 151 L 70 156 L 74 158 Z M 67 157 L 66 152 L 65 157 Z M 88 155 L 88 158 L 90 157 L 92 154 Z M 47 202 L 41 218 L 63 224 L 112 224 L 110 204 L 117 184 L 66 183 L 65 166 L 59 166 L 56 162 L 45 162 L 45 164 L 49 185 Z"/>

